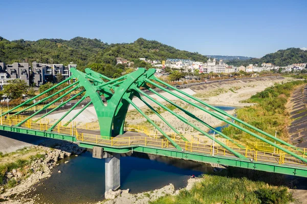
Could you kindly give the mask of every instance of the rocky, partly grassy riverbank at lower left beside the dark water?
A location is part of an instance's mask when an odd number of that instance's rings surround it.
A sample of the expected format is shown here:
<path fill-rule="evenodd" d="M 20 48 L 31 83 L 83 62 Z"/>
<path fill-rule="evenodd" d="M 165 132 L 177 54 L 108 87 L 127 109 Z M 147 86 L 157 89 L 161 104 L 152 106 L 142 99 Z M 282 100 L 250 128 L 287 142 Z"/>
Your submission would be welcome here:
<path fill-rule="evenodd" d="M 51 170 L 55 165 L 58 165 L 57 162 L 62 158 L 78 155 L 85 151 L 84 148 L 79 147 L 75 143 L 54 140 L 48 140 L 40 146 L 28 148 L 29 150 L 35 149 L 36 155 L 39 156 L 30 156 L 28 160 L 29 165 L 4 173 L 4 179 L 2 185 L 0 185 L 0 201 L 3 201 L 2 203 L 4 204 L 34 203 L 34 199 L 23 197 L 30 191 L 35 190 L 32 189 L 32 186 L 42 178 L 50 177 Z M 13 180 L 14 182 L 11 182 Z"/>

